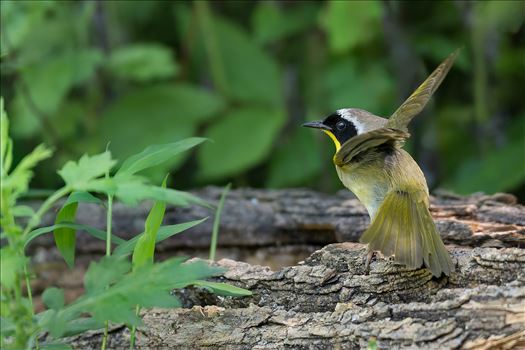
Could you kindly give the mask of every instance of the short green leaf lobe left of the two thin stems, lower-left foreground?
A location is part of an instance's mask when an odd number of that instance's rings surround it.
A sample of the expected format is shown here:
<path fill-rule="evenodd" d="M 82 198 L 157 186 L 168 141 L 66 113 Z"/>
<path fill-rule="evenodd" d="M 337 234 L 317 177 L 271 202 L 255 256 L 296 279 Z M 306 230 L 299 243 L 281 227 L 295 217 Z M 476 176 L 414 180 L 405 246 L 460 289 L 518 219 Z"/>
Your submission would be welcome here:
<path fill-rule="evenodd" d="M 110 284 L 119 281 L 130 268 L 130 262 L 124 258 L 105 256 L 99 262 L 92 262 L 84 275 L 86 294 L 104 290 Z"/>

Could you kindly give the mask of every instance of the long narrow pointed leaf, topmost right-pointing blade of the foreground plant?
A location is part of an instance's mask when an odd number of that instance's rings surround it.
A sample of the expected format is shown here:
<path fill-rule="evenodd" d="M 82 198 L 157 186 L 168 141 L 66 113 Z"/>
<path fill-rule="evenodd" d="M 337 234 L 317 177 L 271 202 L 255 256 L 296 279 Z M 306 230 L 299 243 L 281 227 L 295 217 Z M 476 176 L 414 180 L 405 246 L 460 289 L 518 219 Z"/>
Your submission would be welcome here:
<path fill-rule="evenodd" d="M 142 152 L 126 159 L 117 171 L 116 176 L 133 175 L 144 169 L 157 166 L 204 141 L 206 141 L 205 138 L 191 137 L 178 142 L 148 146 Z"/>

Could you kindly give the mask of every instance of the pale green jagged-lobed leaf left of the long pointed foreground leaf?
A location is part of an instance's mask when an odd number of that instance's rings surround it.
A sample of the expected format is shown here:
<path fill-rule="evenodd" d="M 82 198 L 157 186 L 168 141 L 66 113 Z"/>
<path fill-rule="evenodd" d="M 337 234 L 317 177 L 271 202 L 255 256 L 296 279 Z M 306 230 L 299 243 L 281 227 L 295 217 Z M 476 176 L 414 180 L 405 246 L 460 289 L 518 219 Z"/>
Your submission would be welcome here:
<path fill-rule="evenodd" d="M 94 156 L 84 154 L 78 162 L 67 162 L 58 174 L 66 185 L 83 191 L 90 180 L 109 172 L 115 163 L 109 151 Z"/>

